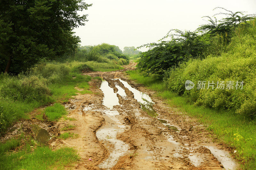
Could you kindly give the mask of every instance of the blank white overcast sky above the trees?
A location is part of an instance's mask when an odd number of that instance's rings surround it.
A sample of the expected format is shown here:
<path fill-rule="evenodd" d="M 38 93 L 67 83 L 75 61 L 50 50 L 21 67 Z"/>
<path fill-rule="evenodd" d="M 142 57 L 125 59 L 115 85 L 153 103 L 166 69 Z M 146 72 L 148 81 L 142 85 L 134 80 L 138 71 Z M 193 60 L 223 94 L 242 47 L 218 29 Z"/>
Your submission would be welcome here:
<path fill-rule="evenodd" d="M 92 4 L 89 21 L 74 31 L 81 45 L 103 42 L 138 47 L 161 39 L 171 29 L 194 31 L 207 22 L 203 16 L 212 16 L 223 7 L 230 11 L 256 13 L 256 0 L 85 0 Z M 146 48 L 139 49 L 146 51 Z"/>

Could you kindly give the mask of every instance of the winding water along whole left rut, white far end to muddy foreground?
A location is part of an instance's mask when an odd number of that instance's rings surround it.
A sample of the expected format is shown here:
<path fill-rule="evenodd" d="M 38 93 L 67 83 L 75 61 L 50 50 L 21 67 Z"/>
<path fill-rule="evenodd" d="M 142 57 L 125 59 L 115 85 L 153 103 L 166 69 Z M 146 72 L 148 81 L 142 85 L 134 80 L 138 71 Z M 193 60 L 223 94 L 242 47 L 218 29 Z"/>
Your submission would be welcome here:
<path fill-rule="evenodd" d="M 123 93 L 119 87 L 117 87 L 119 92 L 117 93 L 121 96 L 125 96 L 125 92 Z M 116 138 L 117 134 L 124 132 L 124 129 L 127 126 L 120 122 L 122 119 L 118 111 L 113 109 L 115 105 L 119 105 L 119 100 L 116 96 L 116 93 L 114 93 L 114 90 L 108 86 L 108 82 L 106 80 L 102 81 L 100 89 L 104 94 L 103 105 L 110 109 L 101 110 L 106 125 L 97 130 L 96 136 L 100 141 L 104 143 L 110 154 L 107 159 L 98 165 L 98 167 L 110 169 L 116 165 L 118 159 L 123 156 L 129 149 L 128 144 Z"/>

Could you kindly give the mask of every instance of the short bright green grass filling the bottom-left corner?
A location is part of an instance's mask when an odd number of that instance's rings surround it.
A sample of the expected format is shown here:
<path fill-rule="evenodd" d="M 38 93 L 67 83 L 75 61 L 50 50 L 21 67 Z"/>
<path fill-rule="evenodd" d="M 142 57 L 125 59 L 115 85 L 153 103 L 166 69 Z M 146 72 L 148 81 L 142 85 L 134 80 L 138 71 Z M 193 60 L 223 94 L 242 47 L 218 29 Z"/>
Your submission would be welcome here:
<path fill-rule="evenodd" d="M 29 150 L 30 146 L 27 150 Z M 48 147 L 37 147 L 34 152 L 20 151 L 0 155 L 0 169 L 65 169 L 79 160 L 73 148 L 52 151 Z"/>

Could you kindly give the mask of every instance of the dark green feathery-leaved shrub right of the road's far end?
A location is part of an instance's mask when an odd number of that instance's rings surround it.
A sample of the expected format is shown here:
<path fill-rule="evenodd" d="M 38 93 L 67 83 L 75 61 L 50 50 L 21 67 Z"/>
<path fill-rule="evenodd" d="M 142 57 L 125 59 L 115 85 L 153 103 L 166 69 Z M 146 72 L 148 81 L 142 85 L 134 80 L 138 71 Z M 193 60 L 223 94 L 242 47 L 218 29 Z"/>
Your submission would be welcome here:
<path fill-rule="evenodd" d="M 170 34 L 171 31 L 174 31 L 175 34 Z M 143 45 L 143 47 L 153 49 L 140 54 L 141 58 L 137 65 L 140 70 L 147 74 L 154 73 L 164 76 L 166 70 L 180 62 L 187 61 L 190 58 L 205 57 L 203 51 L 208 47 L 208 42 L 204 41 L 204 38 L 207 37 L 191 31 L 171 31 L 160 40 L 160 43 Z M 168 37 L 171 37 L 171 41 L 163 41 Z"/>

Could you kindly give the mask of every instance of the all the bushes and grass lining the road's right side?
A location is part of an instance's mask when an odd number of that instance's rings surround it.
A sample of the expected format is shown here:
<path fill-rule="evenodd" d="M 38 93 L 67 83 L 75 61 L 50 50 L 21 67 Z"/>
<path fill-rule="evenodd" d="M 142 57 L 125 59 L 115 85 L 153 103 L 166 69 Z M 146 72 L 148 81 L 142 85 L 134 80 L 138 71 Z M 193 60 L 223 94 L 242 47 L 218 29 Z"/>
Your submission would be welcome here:
<path fill-rule="evenodd" d="M 159 43 L 141 46 L 150 49 L 140 54 L 138 70 L 128 73 L 159 91 L 169 104 L 197 117 L 217 140 L 237 150 L 233 155 L 244 169 L 253 169 L 256 19 L 219 9 L 226 18 L 217 21 L 206 17 L 209 23 L 194 32 L 171 30 Z M 186 90 L 186 80 L 192 81 L 194 88 Z M 208 88 L 208 82 L 214 84 Z M 217 88 L 220 82 L 226 86 Z"/>

